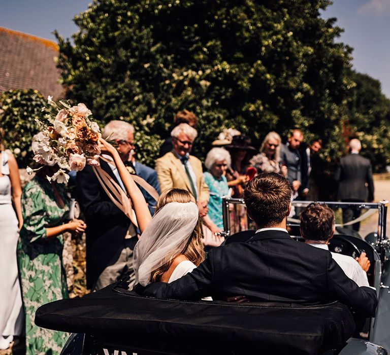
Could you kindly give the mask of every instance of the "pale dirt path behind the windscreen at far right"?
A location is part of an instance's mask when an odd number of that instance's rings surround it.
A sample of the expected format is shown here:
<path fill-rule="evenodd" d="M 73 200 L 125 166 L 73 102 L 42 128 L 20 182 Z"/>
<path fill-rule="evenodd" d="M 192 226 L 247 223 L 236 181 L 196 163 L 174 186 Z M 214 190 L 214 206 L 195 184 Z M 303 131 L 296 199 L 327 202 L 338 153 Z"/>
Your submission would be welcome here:
<path fill-rule="evenodd" d="M 374 175 L 374 197 L 375 202 L 381 200 L 390 201 L 390 179 L 387 174 L 376 174 Z M 378 214 L 375 214 L 362 222 L 360 233 L 362 236 L 366 236 L 370 232 L 374 232 L 378 225 Z M 387 209 L 387 226 L 386 235 L 390 236 L 390 205 Z"/>

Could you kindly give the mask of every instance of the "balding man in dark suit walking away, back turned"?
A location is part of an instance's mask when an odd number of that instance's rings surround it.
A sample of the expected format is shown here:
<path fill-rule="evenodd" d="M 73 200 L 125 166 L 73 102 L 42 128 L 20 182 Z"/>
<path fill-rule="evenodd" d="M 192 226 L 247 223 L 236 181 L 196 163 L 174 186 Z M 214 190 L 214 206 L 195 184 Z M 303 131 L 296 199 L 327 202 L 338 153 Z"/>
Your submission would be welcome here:
<path fill-rule="evenodd" d="M 350 154 L 340 159 L 335 173 L 335 180 L 339 183 L 337 197 L 342 202 L 372 202 L 374 200 L 374 182 L 371 163 L 359 154 L 362 149 L 359 139 L 351 139 L 349 149 Z M 358 218 L 360 214 L 360 208 L 343 208 L 343 223 Z M 360 222 L 345 227 L 358 232 Z"/>

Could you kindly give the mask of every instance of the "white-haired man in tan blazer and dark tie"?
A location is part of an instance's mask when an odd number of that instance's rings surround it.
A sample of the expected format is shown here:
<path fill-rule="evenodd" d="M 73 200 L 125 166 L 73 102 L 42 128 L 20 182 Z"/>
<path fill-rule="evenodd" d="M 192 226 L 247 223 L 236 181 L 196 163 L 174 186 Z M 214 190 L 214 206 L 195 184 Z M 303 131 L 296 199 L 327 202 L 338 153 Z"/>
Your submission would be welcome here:
<path fill-rule="evenodd" d="M 199 213 L 207 214 L 209 188 L 203 179 L 201 161 L 189 155 L 198 132 L 180 123 L 171 132 L 173 150 L 156 160 L 156 171 L 161 192 L 176 188 L 187 190 L 197 200 Z"/>

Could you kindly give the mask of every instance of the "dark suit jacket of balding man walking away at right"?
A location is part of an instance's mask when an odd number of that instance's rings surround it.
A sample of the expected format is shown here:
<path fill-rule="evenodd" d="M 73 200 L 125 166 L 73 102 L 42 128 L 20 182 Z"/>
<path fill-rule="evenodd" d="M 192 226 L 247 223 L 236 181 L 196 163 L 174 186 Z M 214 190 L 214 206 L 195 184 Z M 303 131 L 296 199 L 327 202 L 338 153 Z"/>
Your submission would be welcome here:
<path fill-rule="evenodd" d="M 372 201 L 374 199 L 371 163 L 360 154 L 348 154 L 340 159 L 335 180 L 339 182 L 340 200 Z"/>

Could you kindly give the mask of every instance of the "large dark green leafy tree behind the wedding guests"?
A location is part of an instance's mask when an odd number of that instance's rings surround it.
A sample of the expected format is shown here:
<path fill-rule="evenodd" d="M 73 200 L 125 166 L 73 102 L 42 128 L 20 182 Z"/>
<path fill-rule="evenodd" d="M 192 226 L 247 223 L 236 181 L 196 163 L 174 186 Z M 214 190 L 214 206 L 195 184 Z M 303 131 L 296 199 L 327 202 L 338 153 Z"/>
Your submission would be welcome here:
<path fill-rule="evenodd" d="M 269 130 L 298 126 L 323 138 L 329 160 L 352 85 L 341 29 L 319 16 L 330 3 L 94 0 L 75 17 L 74 44 L 57 34 L 58 66 L 68 98 L 103 122 L 136 126 L 150 165 L 184 108 L 200 119 L 200 156 L 223 128 L 259 144 Z"/>

